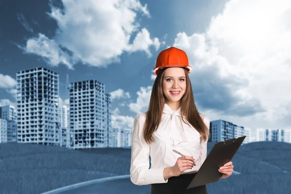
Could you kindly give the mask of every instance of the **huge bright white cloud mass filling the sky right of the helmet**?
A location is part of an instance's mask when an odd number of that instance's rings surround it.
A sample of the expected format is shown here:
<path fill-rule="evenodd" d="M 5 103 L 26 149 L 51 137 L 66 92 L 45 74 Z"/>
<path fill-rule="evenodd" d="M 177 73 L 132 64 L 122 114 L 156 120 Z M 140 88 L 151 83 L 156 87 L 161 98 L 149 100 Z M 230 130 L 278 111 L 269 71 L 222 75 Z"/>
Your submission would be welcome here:
<path fill-rule="evenodd" d="M 290 0 L 236 0 L 212 17 L 205 33 L 177 34 L 173 46 L 188 54 L 194 90 L 201 89 L 196 96 L 201 103 L 207 100 L 204 107 L 224 101 L 217 111 L 242 116 L 229 117 L 234 122 L 261 126 L 275 127 L 280 117 L 290 115 L 279 111 L 291 95 L 290 18 Z M 224 92 L 211 93 L 216 88 Z"/>

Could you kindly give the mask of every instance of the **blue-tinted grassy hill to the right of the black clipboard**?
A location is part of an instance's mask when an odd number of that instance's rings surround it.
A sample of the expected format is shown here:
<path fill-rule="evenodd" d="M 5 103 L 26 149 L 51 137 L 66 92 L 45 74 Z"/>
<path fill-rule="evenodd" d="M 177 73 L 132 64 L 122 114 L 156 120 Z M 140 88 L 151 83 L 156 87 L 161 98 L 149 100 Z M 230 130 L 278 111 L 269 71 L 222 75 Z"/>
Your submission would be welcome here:
<path fill-rule="evenodd" d="M 209 150 L 210 151 L 210 150 Z M 290 194 L 291 144 L 253 142 L 234 156 L 233 175 L 207 186 L 209 194 Z"/>

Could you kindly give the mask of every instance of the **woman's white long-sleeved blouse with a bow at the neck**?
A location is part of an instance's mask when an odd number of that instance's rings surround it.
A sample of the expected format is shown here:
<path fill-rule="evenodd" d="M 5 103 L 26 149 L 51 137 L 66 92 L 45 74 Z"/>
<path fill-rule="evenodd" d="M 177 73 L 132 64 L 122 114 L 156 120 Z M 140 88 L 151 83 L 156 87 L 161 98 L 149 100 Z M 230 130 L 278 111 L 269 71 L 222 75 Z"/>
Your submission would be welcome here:
<path fill-rule="evenodd" d="M 200 114 L 208 129 L 210 119 Z M 184 119 L 186 121 L 186 119 Z M 134 118 L 131 146 L 130 180 L 136 185 L 167 183 L 163 178 L 163 169 L 174 166 L 181 157 L 173 149 L 185 156 L 193 156 L 196 166 L 187 169 L 183 174 L 195 173 L 199 170 L 207 156 L 207 141 L 200 133 L 180 118 L 180 108 L 173 111 L 165 103 L 162 120 L 158 129 L 153 133 L 155 141 L 146 144 L 143 137 L 143 127 L 146 113 L 140 113 Z M 187 122 L 187 121 L 186 121 Z M 188 123 L 188 122 L 187 122 Z M 149 169 L 149 155 L 151 167 Z"/>

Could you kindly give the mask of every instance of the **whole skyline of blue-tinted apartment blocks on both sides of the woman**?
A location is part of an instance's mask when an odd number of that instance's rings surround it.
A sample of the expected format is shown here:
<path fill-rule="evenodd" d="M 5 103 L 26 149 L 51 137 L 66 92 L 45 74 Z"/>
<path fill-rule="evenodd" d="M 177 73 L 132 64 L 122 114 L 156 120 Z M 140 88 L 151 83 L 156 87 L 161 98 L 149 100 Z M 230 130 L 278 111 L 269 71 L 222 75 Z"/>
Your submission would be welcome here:
<path fill-rule="evenodd" d="M 67 76 L 69 102 L 65 105 L 59 97 L 58 73 L 36 67 L 18 71 L 16 75 L 17 110 L 11 105 L 0 106 L 1 143 L 37 143 L 73 149 L 131 146 L 131 130 L 112 128 L 111 94 L 105 93 L 103 83 L 96 80 L 69 83 Z M 259 128 L 252 136 L 250 128 L 219 119 L 210 121 L 209 141 L 246 135 L 243 144 L 291 143 L 290 133 L 290 129 Z"/>

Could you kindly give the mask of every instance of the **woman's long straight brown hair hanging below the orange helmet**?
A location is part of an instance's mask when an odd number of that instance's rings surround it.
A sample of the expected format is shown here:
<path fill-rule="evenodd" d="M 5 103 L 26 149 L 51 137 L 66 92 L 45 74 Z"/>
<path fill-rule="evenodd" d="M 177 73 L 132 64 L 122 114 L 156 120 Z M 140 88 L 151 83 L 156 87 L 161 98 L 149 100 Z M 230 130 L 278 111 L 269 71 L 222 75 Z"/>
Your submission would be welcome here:
<path fill-rule="evenodd" d="M 165 96 L 162 92 L 162 81 L 165 69 L 166 68 L 159 70 L 159 74 L 154 81 L 150 95 L 149 106 L 146 112 L 146 122 L 143 130 L 144 139 L 147 144 L 154 141 L 153 133 L 158 129 L 162 120 L 162 111 L 166 103 Z M 183 69 L 186 76 L 186 91 L 180 99 L 181 118 L 182 121 L 187 124 L 187 122 L 184 121 L 185 116 L 187 121 L 201 134 L 203 140 L 206 141 L 209 138 L 210 132 L 201 118 L 200 113 L 197 111 L 188 71 L 185 68 Z"/>

